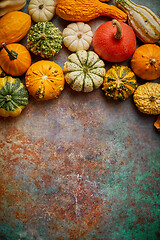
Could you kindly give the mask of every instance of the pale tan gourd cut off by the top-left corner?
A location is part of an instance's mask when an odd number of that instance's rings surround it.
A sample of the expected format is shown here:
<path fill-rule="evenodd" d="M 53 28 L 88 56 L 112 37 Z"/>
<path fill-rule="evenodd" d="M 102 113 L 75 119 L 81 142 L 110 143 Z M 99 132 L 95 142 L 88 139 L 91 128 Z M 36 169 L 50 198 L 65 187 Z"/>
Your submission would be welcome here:
<path fill-rule="evenodd" d="M 0 1 L 0 17 L 6 13 L 20 10 L 26 4 L 26 0 L 1 0 Z"/>

